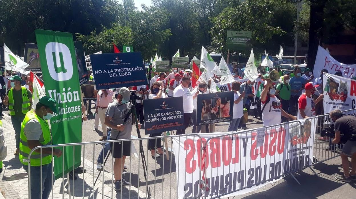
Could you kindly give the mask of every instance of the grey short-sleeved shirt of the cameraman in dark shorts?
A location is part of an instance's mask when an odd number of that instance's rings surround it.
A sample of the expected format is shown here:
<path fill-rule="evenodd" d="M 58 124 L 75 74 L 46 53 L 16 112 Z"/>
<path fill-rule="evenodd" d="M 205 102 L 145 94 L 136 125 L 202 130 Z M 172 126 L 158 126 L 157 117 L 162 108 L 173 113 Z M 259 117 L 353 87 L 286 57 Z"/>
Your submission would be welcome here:
<path fill-rule="evenodd" d="M 119 130 L 117 129 L 111 129 L 111 139 L 115 139 L 117 136 L 117 139 L 129 139 L 131 138 L 131 131 L 132 131 L 132 117 L 131 114 L 128 116 L 125 124 L 124 124 L 124 119 L 127 114 L 127 112 L 130 110 L 131 104 L 126 103 L 126 104 L 119 104 L 119 102 L 116 100 L 113 103 L 110 103 L 108 106 L 108 109 L 106 110 L 105 116 L 111 117 L 111 121 L 114 122 L 116 125 L 123 124 L 125 126 L 124 130 L 119 133 Z"/>

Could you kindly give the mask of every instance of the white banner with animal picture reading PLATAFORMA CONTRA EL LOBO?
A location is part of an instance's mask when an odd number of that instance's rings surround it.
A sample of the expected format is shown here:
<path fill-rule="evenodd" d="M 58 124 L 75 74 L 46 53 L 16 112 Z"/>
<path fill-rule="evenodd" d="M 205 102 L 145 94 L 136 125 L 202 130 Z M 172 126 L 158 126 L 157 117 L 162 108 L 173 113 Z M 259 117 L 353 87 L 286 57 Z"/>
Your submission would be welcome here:
<path fill-rule="evenodd" d="M 356 108 L 356 80 L 323 73 L 324 112 Z"/>

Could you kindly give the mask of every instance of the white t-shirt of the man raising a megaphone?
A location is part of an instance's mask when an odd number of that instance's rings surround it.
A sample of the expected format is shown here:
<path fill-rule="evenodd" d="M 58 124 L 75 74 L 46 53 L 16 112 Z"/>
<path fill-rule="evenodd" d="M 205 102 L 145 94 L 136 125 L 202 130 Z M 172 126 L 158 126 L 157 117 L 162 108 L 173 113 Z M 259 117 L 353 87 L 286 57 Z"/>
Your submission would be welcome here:
<path fill-rule="evenodd" d="M 261 110 L 265 101 L 261 100 Z M 282 123 L 281 101 L 276 97 L 269 97 L 269 102 L 262 111 L 263 126 L 272 126 Z"/>

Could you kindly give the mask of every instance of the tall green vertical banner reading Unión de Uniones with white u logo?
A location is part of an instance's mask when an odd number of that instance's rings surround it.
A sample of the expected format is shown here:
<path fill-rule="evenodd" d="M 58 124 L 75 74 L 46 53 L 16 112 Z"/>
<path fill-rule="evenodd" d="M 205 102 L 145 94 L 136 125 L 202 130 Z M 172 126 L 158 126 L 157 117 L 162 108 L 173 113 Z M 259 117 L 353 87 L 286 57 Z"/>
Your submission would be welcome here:
<path fill-rule="evenodd" d="M 52 143 L 82 142 L 82 113 L 78 69 L 72 33 L 35 30 L 41 54 L 46 95 L 57 101 L 51 118 Z M 62 156 L 54 157 L 56 179 L 80 165 L 81 146 L 59 147 Z M 64 166 L 64 168 L 63 168 Z"/>

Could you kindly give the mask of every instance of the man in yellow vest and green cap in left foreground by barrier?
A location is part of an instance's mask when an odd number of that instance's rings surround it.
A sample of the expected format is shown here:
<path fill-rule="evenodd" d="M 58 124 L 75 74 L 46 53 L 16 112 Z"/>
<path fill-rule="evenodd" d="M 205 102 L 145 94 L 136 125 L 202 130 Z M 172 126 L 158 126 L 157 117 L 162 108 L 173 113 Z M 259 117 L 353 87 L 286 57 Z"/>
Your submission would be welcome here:
<path fill-rule="evenodd" d="M 54 99 L 42 97 L 36 104 L 36 110 L 27 112 L 21 124 L 19 159 L 30 180 L 31 198 L 41 198 L 41 195 L 42 199 L 49 197 L 54 179 L 52 156 L 62 155 L 62 151 L 57 148 L 42 148 L 33 151 L 28 157 L 33 148 L 52 144 L 47 120 L 51 119 L 53 112 L 57 113 L 56 105 Z M 31 165 L 30 173 L 28 162 Z"/>

